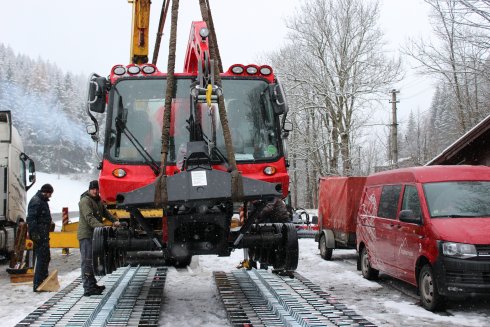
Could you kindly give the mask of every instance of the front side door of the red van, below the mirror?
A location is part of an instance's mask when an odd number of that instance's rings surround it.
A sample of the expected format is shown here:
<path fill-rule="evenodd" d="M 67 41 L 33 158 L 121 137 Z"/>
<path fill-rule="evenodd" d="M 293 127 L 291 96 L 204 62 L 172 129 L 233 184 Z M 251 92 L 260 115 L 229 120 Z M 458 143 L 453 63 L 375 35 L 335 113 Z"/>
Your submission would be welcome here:
<path fill-rule="evenodd" d="M 398 213 L 395 263 L 396 275 L 409 283 L 416 284 L 415 264 L 422 251 L 424 229 L 420 196 L 415 185 L 405 185 L 402 205 Z M 409 216 L 410 221 L 401 221 L 400 216 Z"/>

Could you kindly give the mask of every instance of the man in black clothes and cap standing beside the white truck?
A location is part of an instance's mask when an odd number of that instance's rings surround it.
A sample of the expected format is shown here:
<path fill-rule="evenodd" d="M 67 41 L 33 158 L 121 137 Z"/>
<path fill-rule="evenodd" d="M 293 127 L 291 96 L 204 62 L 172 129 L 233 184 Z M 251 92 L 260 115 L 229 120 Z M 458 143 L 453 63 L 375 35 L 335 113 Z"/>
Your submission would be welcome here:
<path fill-rule="evenodd" d="M 51 261 L 49 251 L 51 212 L 48 201 L 53 191 L 53 187 L 50 184 L 44 184 L 29 201 L 27 207 L 27 225 L 29 226 L 29 236 L 34 242 L 34 256 L 36 257 L 33 281 L 34 292 L 37 292 L 39 285 L 48 277 L 48 267 Z"/>

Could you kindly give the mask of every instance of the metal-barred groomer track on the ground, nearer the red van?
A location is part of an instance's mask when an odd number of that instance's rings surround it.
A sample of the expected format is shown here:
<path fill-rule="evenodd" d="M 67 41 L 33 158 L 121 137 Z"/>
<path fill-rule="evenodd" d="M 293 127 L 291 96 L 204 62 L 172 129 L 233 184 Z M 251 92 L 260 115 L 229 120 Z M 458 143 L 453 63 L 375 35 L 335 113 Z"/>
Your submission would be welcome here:
<path fill-rule="evenodd" d="M 298 273 L 215 272 L 232 326 L 375 326 Z"/>

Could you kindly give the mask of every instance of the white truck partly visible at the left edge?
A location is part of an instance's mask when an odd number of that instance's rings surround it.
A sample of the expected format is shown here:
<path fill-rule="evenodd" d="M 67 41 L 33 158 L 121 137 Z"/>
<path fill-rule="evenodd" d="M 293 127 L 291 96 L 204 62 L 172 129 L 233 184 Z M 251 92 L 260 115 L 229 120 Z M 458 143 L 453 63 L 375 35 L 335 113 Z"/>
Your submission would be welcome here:
<path fill-rule="evenodd" d="M 26 228 L 20 227 L 25 224 L 27 190 L 36 181 L 36 171 L 11 118 L 10 111 L 0 111 L 0 260 L 10 259 L 12 267 L 22 260 L 19 252 L 24 249 Z"/>

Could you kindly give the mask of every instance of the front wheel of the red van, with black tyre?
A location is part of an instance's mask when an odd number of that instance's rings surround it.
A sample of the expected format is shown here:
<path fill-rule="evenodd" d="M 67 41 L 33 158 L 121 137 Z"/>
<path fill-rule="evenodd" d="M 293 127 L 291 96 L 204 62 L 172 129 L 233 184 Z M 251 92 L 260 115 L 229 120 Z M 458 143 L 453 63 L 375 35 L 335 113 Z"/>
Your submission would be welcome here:
<path fill-rule="evenodd" d="M 429 264 L 420 270 L 419 275 L 420 303 L 429 311 L 439 311 L 444 309 L 445 299 L 437 290 L 437 283 L 434 272 Z"/>

